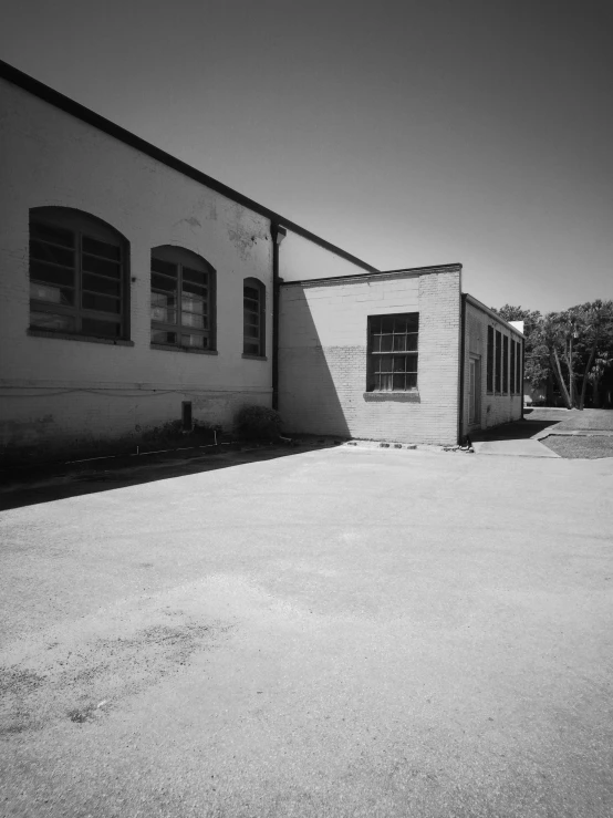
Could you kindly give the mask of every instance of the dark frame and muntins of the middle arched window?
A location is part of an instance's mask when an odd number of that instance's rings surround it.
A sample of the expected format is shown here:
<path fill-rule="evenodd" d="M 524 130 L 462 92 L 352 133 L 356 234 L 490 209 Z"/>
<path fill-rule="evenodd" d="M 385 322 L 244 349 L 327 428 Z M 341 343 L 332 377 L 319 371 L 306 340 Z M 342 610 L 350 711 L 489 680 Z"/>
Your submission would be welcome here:
<path fill-rule="evenodd" d="M 207 261 L 202 256 L 200 256 L 197 252 L 194 252 L 194 250 L 189 250 L 186 247 L 181 247 L 179 245 L 158 245 L 157 247 L 153 247 L 150 250 L 150 260 L 149 260 L 149 310 L 150 310 L 150 346 L 152 349 L 163 349 L 163 350 L 177 350 L 179 352 L 199 352 L 199 353 L 217 353 L 217 272 L 212 265 Z M 164 263 L 170 263 L 175 265 L 177 269 L 177 276 L 176 276 L 176 303 L 173 307 L 167 307 L 166 309 L 174 309 L 176 313 L 176 322 L 172 323 L 169 321 L 159 321 L 155 320 L 153 317 L 153 310 L 155 309 L 155 306 L 152 303 L 154 292 L 156 292 L 156 289 L 154 288 L 154 281 L 153 277 L 154 275 L 159 276 L 166 276 L 166 273 L 159 272 L 157 270 L 153 269 L 153 262 L 154 260 L 158 260 Z M 205 268 L 205 269 L 198 269 Z M 195 283 L 196 287 L 206 287 L 207 290 L 207 298 L 206 298 L 206 314 L 202 312 L 202 317 L 207 319 L 208 327 L 207 328 L 199 328 L 199 327 L 191 327 L 189 324 L 183 323 L 183 312 L 189 312 L 188 310 L 183 309 L 183 299 L 184 294 L 189 291 L 184 291 L 184 268 L 194 270 L 195 272 L 201 272 L 206 276 L 206 284 L 198 284 Z M 166 278 L 172 279 L 173 277 L 166 276 Z M 158 294 L 163 294 L 158 293 Z M 205 299 L 202 299 L 205 301 Z M 199 313 L 195 313 L 199 314 Z M 154 341 L 154 332 L 165 332 L 165 333 L 175 333 L 176 341 Z M 181 343 L 184 335 L 198 335 L 201 338 L 207 339 L 207 345 L 206 346 L 191 346 L 191 345 L 185 345 Z"/>

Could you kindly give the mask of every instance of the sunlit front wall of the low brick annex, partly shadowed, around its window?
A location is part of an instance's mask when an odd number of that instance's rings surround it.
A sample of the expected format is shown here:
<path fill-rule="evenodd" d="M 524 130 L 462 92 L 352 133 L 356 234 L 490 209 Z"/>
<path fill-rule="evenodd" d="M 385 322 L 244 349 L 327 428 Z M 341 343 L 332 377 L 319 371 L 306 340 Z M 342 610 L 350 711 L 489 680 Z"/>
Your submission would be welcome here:
<path fill-rule="evenodd" d="M 368 315 L 419 312 L 417 393 L 367 393 Z M 284 284 L 280 411 L 289 432 L 457 439 L 460 269 Z"/>

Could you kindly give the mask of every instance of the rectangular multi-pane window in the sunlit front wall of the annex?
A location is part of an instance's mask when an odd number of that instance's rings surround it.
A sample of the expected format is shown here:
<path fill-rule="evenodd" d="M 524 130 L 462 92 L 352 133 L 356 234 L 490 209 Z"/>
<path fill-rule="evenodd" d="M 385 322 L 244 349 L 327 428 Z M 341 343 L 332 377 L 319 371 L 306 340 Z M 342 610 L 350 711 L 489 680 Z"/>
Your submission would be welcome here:
<path fill-rule="evenodd" d="M 368 318 L 368 392 L 417 389 L 419 313 Z"/>

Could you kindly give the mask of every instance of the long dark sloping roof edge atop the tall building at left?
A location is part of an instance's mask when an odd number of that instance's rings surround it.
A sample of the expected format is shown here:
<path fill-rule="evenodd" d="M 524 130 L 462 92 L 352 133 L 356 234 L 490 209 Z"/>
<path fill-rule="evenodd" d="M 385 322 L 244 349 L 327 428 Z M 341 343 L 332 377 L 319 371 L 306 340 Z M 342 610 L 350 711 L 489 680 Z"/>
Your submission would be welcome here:
<path fill-rule="evenodd" d="M 126 128 L 122 127 L 121 125 L 116 125 L 114 122 L 111 122 L 111 120 L 107 120 L 101 114 L 96 114 L 94 111 L 91 111 L 84 105 L 81 105 L 81 103 L 71 100 L 69 96 L 65 96 L 64 94 L 55 91 L 49 85 L 45 85 L 39 80 L 34 80 L 34 77 L 23 73 L 23 71 L 20 71 L 19 69 L 15 69 L 13 65 L 10 65 L 3 60 L 0 60 L 0 77 L 7 80 L 13 85 L 18 85 L 19 87 L 28 91 L 34 96 L 38 96 L 44 102 L 48 102 L 50 105 L 53 105 L 54 107 L 60 108 L 67 114 L 71 114 L 77 120 L 86 122 L 89 125 L 93 125 L 98 131 L 103 131 L 104 133 L 113 136 L 120 142 L 123 142 L 126 145 L 136 148 L 136 151 L 141 151 L 141 153 L 144 153 L 147 156 L 150 156 L 153 159 L 167 165 L 168 167 L 173 168 L 173 170 L 177 170 L 184 176 L 188 176 L 190 179 L 194 179 L 195 182 L 209 187 L 211 190 L 216 190 L 222 196 L 226 196 L 228 199 L 236 201 L 243 207 L 248 207 L 250 210 L 260 214 L 260 216 L 264 216 L 264 218 L 270 219 L 271 222 L 283 225 L 283 227 L 289 228 L 298 236 L 302 236 L 302 238 L 305 238 L 309 241 L 323 247 L 324 250 L 329 250 L 330 252 L 340 256 L 341 258 L 345 259 L 345 261 L 350 261 L 351 263 L 356 265 L 357 267 L 361 267 L 368 272 L 377 272 L 376 267 L 368 265 L 366 261 L 359 259 L 356 256 L 352 256 L 350 252 L 346 252 L 346 250 L 332 245 L 330 241 L 322 239 L 314 232 L 300 227 L 300 225 L 290 221 L 290 219 L 287 219 L 284 216 L 281 216 L 273 210 L 269 210 L 268 207 L 258 204 L 253 199 L 250 199 L 248 196 L 243 196 L 237 190 L 233 190 L 231 187 L 224 185 L 217 179 L 214 179 L 211 176 L 207 176 L 207 174 L 202 173 L 201 170 L 197 170 L 195 167 L 191 167 L 191 165 L 188 165 L 186 162 L 177 159 L 172 154 L 166 153 L 166 151 L 152 145 L 150 142 L 136 136 L 136 134 L 133 134 L 131 131 L 126 131 Z"/>

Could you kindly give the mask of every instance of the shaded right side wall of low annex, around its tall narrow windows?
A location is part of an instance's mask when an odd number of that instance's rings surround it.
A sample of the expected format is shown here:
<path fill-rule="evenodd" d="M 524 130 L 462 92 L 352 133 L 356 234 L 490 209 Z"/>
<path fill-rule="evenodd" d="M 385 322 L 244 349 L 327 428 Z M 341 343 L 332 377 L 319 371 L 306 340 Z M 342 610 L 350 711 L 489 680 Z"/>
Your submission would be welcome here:
<path fill-rule="evenodd" d="M 478 428 L 489 428 L 501 423 L 510 423 L 521 417 L 521 394 L 511 390 L 509 376 L 509 390 L 506 394 L 487 390 L 487 328 L 492 327 L 500 331 L 502 338 L 509 339 L 509 355 L 511 350 L 511 338 L 521 342 L 523 335 L 509 327 L 506 321 L 497 319 L 493 314 L 470 300 L 466 302 L 466 327 L 465 327 L 465 359 L 464 359 L 464 412 L 463 435 L 469 434 Z M 495 335 L 496 338 L 496 335 Z M 469 423 L 469 361 L 475 358 L 480 362 L 481 387 L 480 406 L 477 423 Z M 509 365 L 510 373 L 510 365 Z M 495 384 L 496 385 L 496 384 Z"/>

